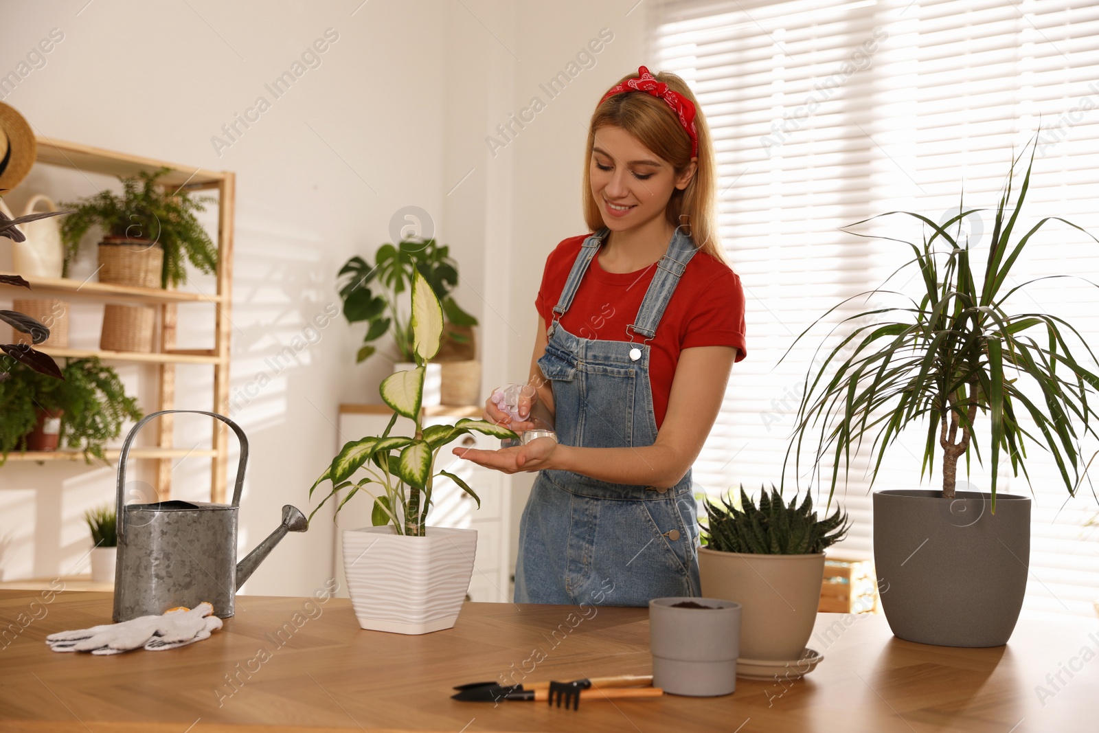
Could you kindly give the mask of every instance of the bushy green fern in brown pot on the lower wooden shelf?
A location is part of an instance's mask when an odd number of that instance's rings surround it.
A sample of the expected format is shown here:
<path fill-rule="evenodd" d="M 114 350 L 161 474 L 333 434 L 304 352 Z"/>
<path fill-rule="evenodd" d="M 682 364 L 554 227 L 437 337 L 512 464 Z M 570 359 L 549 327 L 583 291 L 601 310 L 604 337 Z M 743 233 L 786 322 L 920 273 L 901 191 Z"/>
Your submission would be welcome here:
<path fill-rule="evenodd" d="M 0 380 L 0 465 L 13 449 L 80 448 L 85 459 L 104 459 L 108 441 L 126 420 L 141 420 L 118 373 L 98 358 L 67 359 L 63 379 L 21 364 Z"/>

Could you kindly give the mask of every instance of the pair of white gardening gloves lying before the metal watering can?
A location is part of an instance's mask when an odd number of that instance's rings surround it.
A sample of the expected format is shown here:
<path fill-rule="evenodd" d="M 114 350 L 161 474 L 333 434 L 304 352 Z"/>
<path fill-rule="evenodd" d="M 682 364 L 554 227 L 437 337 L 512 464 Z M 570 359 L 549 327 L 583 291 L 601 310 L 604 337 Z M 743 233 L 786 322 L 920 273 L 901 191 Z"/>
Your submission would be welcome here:
<path fill-rule="evenodd" d="M 175 648 L 209 638 L 212 631 L 221 629 L 221 619 L 206 618 L 211 613 L 213 606 L 199 603 L 190 611 L 168 611 L 164 615 L 143 615 L 122 623 L 49 634 L 46 644 L 54 652 L 98 655 L 120 654 L 140 646 L 149 651 Z"/>

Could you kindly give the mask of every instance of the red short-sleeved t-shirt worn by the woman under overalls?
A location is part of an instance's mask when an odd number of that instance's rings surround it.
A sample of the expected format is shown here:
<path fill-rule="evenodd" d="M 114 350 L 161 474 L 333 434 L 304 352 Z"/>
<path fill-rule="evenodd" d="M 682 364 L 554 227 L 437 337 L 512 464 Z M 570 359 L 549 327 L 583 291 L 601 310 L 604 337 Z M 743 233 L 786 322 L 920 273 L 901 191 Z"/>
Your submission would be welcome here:
<path fill-rule="evenodd" d="M 565 289 L 565 280 L 588 235 L 565 240 L 550 253 L 542 287 L 534 306 L 553 323 L 553 308 Z M 641 310 L 656 264 L 635 273 L 608 273 L 597 255 L 584 274 L 573 304 L 560 325 L 581 338 L 630 341 L 625 327 Z M 640 343 L 641 337 L 636 341 Z M 692 346 L 735 346 L 736 360 L 744 358 L 744 291 L 741 278 L 724 263 L 699 252 L 691 257 L 664 311 L 651 348 L 650 380 L 656 426 L 664 422 L 671 393 L 671 379 L 679 363 L 679 352 Z"/>

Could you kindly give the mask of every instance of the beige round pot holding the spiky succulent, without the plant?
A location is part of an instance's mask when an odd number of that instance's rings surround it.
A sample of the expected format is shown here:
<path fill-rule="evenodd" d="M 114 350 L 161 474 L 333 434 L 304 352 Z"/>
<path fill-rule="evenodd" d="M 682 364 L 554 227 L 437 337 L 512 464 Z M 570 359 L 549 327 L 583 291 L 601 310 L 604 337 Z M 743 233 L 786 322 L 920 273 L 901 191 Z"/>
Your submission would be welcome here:
<path fill-rule="evenodd" d="M 813 632 L 824 580 L 824 553 L 748 555 L 698 551 L 702 596 L 735 601 L 742 659 L 795 660 Z"/>

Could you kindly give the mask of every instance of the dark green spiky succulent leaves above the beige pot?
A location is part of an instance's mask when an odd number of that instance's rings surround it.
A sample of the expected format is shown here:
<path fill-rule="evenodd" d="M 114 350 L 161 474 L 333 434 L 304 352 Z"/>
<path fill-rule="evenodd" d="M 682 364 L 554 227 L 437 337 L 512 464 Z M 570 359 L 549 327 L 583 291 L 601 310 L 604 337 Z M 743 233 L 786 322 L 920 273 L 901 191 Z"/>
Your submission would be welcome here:
<path fill-rule="evenodd" d="M 850 527 L 847 514 L 841 515 L 839 508 L 831 517 L 818 520 L 809 491 L 798 506 L 797 495 L 785 504 L 774 486 L 769 497 L 763 488 L 756 507 L 742 485 L 739 509 L 728 498 L 720 501 L 717 504 L 710 500 L 706 504 L 707 547 L 719 552 L 815 555 L 843 540 Z"/>

